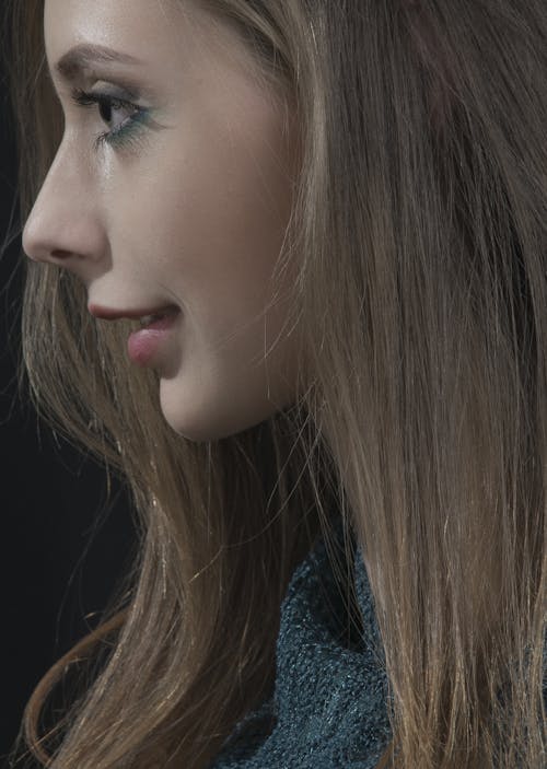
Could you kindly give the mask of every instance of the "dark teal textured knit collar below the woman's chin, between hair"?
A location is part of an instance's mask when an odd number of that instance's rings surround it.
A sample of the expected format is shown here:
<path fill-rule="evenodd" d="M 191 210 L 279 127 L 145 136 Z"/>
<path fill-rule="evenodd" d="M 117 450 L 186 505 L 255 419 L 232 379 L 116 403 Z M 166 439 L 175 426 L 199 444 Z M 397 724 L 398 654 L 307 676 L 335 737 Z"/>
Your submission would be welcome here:
<path fill-rule="evenodd" d="M 296 568 L 281 605 L 272 697 L 237 724 L 211 769 L 376 766 L 392 736 L 387 679 L 362 558 L 354 564 L 363 622 L 353 638 L 322 539 Z"/>

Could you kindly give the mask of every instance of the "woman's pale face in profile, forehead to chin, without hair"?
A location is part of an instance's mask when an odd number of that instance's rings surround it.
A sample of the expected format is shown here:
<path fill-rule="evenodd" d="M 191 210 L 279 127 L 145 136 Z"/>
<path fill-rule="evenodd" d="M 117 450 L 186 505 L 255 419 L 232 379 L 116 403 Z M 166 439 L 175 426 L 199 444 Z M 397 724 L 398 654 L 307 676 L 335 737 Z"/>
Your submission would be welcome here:
<path fill-rule="evenodd" d="M 83 281 L 98 317 L 173 311 L 128 354 L 158 372 L 173 429 L 200 441 L 295 396 L 289 287 L 275 292 L 272 272 L 298 140 L 235 33 L 182 7 L 45 0 L 66 125 L 23 247 Z"/>

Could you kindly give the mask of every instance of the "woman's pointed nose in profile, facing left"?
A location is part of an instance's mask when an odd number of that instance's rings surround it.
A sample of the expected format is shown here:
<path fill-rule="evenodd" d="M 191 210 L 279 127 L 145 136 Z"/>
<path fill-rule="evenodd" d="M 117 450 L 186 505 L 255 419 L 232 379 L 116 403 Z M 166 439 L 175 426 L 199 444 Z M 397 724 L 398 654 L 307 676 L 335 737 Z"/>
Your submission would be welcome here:
<path fill-rule="evenodd" d="M 88 281 L 106 244 L 90 172 L 61 143 L 24 226 L 23 250 Z"/>

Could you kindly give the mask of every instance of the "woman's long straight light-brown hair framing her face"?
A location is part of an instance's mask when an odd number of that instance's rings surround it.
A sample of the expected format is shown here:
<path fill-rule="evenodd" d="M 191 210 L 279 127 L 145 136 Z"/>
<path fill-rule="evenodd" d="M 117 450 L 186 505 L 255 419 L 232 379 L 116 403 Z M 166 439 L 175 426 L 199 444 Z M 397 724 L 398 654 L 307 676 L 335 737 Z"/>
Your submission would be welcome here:
<path fill-rule="evenodd" d="M 263 424 L 190 443 L 153 374 L 125 362 L 127 329 L 90 318 L 69 275 L 28 265 L 22 383 L 126 479 L 141 549 L 103 624 L 38 685 L 26 741 L 55 769 L 207 766 L 271 686 L 288 580 L 336 512 L 375 601 L 393 766 L 540 769 L 545 2 L 199 4 L 298 108 L 279 275 L 298 265 L 302 386 Z M 42 2 L 10 11 L 26 215 L 62 125 Z M 79 665 L 71 709 L 39 737 Z"/>

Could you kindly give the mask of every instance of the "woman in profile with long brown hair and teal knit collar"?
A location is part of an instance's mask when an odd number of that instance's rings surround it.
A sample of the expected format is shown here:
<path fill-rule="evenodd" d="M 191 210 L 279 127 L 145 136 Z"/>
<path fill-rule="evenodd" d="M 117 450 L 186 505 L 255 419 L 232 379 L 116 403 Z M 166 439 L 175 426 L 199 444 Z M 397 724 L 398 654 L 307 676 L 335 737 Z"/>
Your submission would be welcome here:
<path fill-rule="evenodd" d="M 539 769 L 543 0 L 10 11 L 31 393 L 141 532 L 33 753 Z"/>

